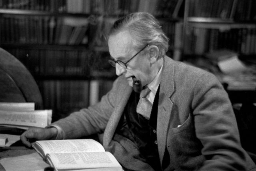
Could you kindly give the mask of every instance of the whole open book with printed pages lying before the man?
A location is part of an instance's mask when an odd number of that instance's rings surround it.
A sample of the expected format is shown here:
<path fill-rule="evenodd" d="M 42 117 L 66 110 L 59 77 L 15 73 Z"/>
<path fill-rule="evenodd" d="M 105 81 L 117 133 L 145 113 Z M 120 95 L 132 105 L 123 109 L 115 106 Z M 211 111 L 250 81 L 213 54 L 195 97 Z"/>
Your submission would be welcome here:
<path fill-rule="evenodd" d="M 36 141 L 32 147 L 56 171 L 123 171 L 114 155 L 93 139 Z"/>

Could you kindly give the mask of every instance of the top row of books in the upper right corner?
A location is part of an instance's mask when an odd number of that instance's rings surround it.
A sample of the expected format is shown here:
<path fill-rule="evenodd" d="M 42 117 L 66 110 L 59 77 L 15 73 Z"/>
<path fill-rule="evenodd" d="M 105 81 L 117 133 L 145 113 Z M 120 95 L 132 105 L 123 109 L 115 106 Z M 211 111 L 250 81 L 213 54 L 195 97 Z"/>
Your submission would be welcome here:
<path fill-rule="evenodd" d="M 254 0 L 190 0 L 189 16 L 256 20 Z"/>

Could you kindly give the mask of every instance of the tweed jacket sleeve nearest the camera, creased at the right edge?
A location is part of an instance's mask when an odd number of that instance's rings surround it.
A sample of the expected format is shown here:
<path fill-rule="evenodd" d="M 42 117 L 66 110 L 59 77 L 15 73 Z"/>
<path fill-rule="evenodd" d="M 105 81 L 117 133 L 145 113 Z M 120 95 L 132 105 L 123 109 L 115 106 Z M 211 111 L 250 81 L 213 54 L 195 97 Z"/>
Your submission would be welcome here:
<path fill-rule="evenodd" d="M 198 78 L 192 101 L 196 136 L 206 161 L 202 170 L 246 170 L 236 118 L 228 94 L 215 76 Z"/>

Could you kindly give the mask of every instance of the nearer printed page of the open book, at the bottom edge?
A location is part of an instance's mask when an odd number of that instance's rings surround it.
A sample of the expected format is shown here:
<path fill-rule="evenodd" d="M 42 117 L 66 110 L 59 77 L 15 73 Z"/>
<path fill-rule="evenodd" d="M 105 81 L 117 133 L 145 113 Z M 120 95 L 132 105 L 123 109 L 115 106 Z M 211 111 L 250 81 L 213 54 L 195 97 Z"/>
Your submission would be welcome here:
<path fill-rule="evenodd" d="M 110 152 L 50 153 L 46 155 L 50 165 L 62 169 L 115 168 L 121 165 Z"/>

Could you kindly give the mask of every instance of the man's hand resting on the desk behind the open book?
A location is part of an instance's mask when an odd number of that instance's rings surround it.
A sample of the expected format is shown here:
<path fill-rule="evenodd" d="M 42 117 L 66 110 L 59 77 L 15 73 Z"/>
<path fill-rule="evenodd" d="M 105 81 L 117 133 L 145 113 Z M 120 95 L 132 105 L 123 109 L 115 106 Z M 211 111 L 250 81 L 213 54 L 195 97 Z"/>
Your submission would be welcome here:
<path fill-rule="evenodd" d="M 54 139 L 57 136 L 57 128 L 50 127 L 50 128 L 38 128 L 32 127 L 26 130 L 22 135 L 20 135 L 20 140 L 22 143 L 31 147 L 31 142 L 29 140 L 36 139 L 36 140 L 46 140 L 46 139 Z"/>

